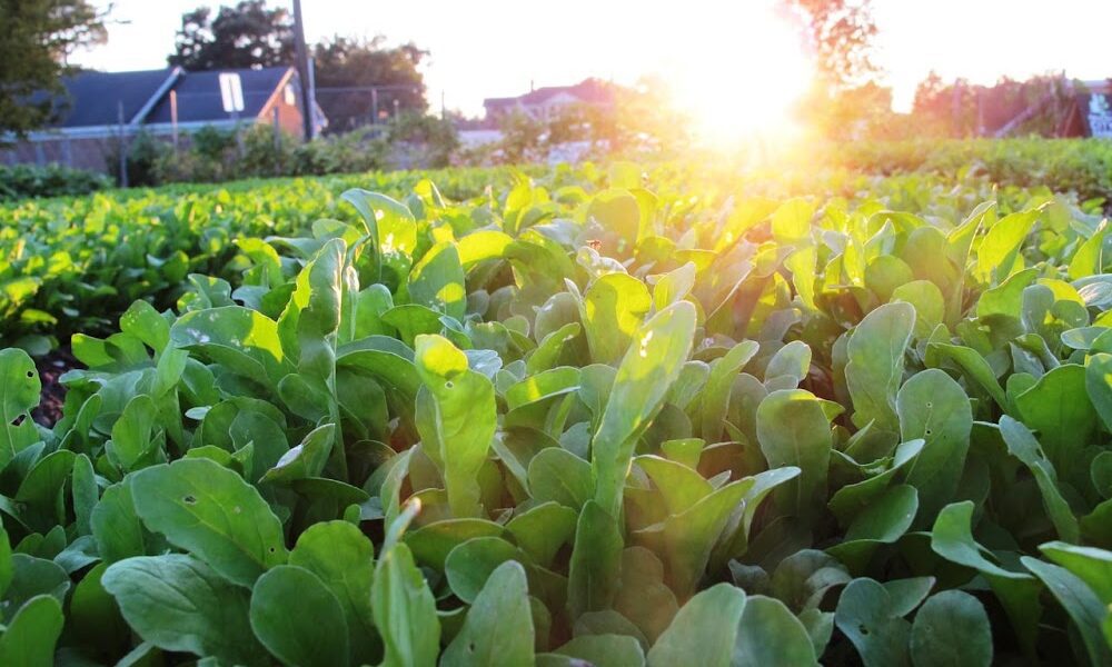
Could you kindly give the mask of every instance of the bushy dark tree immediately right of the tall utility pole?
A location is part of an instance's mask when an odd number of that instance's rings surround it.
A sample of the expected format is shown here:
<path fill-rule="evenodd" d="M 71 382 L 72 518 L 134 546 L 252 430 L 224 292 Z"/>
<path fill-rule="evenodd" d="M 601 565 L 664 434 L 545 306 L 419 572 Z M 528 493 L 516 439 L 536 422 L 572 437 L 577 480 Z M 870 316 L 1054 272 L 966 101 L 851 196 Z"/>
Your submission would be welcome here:
<path fill-rule="evenodd" d="M 395 111 L 424 113 L 428 108 L 425 77 L 418 69 L 428 51 L 413 42 L 393 48 L 385 42 L 383 36 L 371 40 L 336 36 L 316 44 L 317 102 L 331 131 L 366 125 L 376 112 L 394 117 Z M 378 90 L 371 92 L 370 87 Z"/>

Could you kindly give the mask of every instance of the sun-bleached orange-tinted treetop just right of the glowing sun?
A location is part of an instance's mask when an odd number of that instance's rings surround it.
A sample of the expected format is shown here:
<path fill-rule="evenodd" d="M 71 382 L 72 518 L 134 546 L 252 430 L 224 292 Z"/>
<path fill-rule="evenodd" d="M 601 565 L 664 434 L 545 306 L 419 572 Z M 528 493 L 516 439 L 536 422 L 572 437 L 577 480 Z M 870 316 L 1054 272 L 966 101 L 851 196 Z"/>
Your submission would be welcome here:
<path fill-rule="evenodd" d="M 825 87 L 861 86 L 876 71 L 872 40 L 876 23 L 870 0 L 784 0 L 803 14 Z"/>

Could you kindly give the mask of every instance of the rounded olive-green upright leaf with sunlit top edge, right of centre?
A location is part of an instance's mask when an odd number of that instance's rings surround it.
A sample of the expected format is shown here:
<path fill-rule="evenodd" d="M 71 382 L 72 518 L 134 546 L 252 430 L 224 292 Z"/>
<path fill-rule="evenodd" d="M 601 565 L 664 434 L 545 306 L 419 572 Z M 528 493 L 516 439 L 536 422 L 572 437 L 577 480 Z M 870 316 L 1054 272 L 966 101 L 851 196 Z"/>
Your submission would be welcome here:
<path fill-rule="evenodd" d="M 826 499 L 833 437 L 818 399 L 803 389 L 773 391 L 757 406 L 757 440 L 770 468 L 795 466 L 798 479 L 776 491 L 785 512 L 815 516 Z"/>

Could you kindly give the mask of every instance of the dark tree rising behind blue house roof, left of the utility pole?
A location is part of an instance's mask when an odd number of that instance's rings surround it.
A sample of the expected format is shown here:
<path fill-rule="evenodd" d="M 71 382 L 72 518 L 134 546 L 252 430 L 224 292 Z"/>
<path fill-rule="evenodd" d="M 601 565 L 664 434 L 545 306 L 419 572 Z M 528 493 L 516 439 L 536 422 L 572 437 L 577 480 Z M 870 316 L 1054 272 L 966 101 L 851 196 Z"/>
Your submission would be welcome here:
<path fill-rule="evenodd" d="M 271 67 L 294 62 L 294 20 L 266 0 L 241 0 L 221 7 L 216 18 L 208 7 L 181 14 L 175 52 L 167 62 L 187 70 Z"/>

